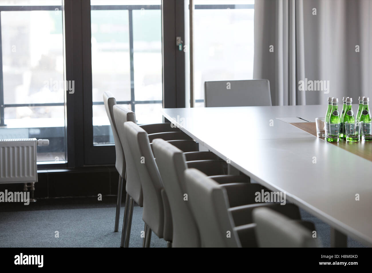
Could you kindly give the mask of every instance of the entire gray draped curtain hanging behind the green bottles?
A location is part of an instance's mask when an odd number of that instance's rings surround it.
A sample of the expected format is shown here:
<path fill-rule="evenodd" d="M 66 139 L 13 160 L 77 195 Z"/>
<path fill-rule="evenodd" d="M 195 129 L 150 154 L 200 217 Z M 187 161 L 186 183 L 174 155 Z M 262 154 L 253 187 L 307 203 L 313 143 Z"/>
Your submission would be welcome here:
<path fill-rule="evenodd" d="M 270 80 L 273 105 L 326 104 L 327 97 L 343 96 L 357 103 L 358 96 L 372 95 L 372 1 L 256 0 L 254 5 L 253 77 Z M 304 90 L 300 81 L 324 86 Z"/>

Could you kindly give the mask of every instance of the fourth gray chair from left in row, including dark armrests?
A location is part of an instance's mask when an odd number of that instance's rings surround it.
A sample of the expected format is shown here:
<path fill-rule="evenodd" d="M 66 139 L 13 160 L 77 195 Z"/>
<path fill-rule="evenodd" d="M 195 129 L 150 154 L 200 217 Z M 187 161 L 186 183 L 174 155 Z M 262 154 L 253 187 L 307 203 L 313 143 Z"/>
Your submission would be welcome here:
<path fill-rule="evenodd" d="M 187 204 L 188 202 L 184 199 L 184 194 L 187 192 L 184 171 L 189 165 L 204 173 L 215 173 L 216 170 L 222 173 L 223 170 L 221 170 L 219 161 L 186 162 L 185 153 L 163 139 L 153 141 L 153 152 L 169 199 L 173 224 L 172 247 L 200 247 L 198 227 Z M 249 177 L 245 175 L 215 175 L 211 177 L 216 178 L 221 183 L 250 182 Z M 257 191 L 263 188 L 258 184 L 252 184 L 251 187 Z"/>

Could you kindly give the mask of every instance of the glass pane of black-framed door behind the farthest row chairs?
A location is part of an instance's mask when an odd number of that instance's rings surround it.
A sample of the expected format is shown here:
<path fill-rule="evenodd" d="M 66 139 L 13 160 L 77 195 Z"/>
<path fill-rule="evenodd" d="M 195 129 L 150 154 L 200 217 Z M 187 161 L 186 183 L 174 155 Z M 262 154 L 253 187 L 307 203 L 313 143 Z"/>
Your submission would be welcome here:
<path fill-rule="evenodd" d="M 163 120 L 160 4 L 91 0 L 93 103 L 110 91 L 139 124 Z M 103 105 L 93 105 L 93 144 L 114 143 L 109 125 Z"/>

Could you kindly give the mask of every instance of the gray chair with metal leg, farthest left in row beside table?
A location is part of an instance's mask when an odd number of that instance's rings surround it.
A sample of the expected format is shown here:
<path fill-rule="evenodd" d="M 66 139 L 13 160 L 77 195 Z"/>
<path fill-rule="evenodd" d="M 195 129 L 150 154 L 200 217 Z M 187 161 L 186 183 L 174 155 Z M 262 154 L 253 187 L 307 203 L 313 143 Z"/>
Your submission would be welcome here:
<path fill-rule="evenodd" d="M 113 114 L 113 106 L 116 105 L 116 100 L 110 92 L 103 93 L 103 103 L 105 104 L 105 109 L 107 116 L 110 121 L 112 135 L 114 137 L 115 142 L 115 151 L 116 151 L 116 162 L 115 167 L 119 173 L 119 185 L 118 185 L 118 200 L 116 203 L 116 215 L 115 215 L 115 228 L 114 231 L 119 230 L 119 217 L 120 217 L 120 206 L 121 206 L 121 194 L 123 190 L 123 178 L 125 178 L 125 158 L 124 158 L 124 151 L 119 139 L 118 130 L 116 129 L 114 114 Z"/>

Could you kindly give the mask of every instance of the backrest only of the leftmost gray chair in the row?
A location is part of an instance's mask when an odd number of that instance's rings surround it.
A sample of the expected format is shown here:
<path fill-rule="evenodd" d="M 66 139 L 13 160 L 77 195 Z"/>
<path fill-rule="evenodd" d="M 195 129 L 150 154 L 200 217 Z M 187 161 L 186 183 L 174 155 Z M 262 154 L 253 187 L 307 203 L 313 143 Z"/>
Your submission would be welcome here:
<path fill-rule="evenodd" d="M 115 151 L 116 151 L 116 163 L 115 167 L 118 170 L 119 175 L 125 177 L 125 157 L 122 144 L 119 139 L 118 130 L 116 129 L 115 118 L 113 114 L 113 106 L 116 105 L 116 100 L 110 92 L 103 93 L 103 103 L 105 104 L 105 109 L 107 116 L 110 121 L 112 134 L 115 142 Z"/>

